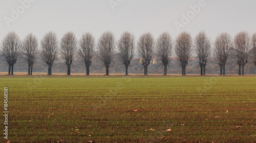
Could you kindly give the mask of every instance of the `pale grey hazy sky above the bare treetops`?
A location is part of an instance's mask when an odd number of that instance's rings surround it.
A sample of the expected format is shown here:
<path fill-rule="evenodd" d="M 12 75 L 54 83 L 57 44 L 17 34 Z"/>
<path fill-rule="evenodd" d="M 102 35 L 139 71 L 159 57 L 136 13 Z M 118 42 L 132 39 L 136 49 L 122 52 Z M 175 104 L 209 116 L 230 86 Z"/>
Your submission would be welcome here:
<path fill-rule="evenodd" d="M 124 31 L 136 38 L 145 32 L 175 38 L 182 31 L 195 37 L 204 30 L 211 39 L 221 32 L 232 37 L 256 32 L 255 0 L 0 0 L 0 11 L 0 40 L 10 31 L 20 38 L 33 33 L 39 40 L 49 31 L 59 39 L 68 31 L 78 37 L 91 32 L 96 39 L 105 31 L 116 39 Z"/>

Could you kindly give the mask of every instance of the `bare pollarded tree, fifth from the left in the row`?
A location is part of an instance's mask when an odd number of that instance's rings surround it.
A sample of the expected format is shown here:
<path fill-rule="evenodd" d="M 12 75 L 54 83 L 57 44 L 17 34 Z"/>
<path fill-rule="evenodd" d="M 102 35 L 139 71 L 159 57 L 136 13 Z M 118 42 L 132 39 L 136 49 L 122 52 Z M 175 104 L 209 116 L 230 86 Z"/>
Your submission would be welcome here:
<path fill-rule="evenodd" d="M 78 44 L 78 55 L 86 65 L 86 75 L 89 75 L 89 68 L 95 54 L 95 39 L 91 33 L 86 33 L 82 35 Z"/>

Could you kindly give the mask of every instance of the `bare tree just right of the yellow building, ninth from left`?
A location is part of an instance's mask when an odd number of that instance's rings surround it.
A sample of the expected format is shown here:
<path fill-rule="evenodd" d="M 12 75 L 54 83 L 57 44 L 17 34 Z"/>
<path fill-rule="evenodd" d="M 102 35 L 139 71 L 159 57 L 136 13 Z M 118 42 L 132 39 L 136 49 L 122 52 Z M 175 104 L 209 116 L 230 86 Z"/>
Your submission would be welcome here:
<path fill-rule="evenodd" d="M 164 66 L 163 75 L 167 74 L 167 65 L 170 62 L 170 56 L 172 56 L 173 41 L 170 34 L 167 32 L 162 33 L 156 42 L 156 56 L 162 61 Z"/>

